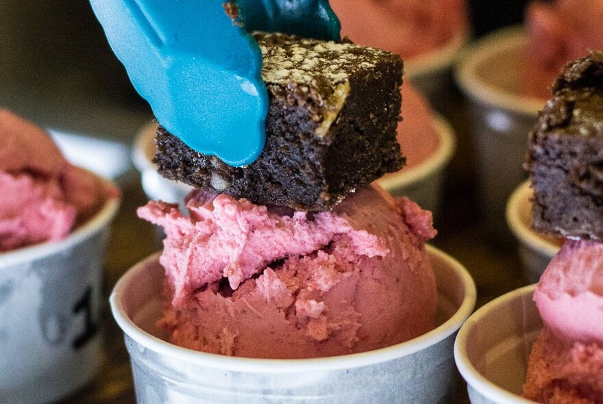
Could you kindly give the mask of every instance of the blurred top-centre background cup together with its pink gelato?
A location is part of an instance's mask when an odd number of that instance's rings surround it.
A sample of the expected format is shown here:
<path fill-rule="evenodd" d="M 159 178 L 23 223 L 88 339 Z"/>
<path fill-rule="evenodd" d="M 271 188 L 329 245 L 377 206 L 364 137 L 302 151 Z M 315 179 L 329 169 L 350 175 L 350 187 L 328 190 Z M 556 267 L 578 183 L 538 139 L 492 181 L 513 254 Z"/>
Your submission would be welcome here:
<path fill-rule="evenodd" d="M 470 36 L 464 0 L 331 0 L 342 36 L 397 53 L 404 74 L 438 110 L 451 94 L 450 71 Z M 375 23 L 378 22 L 378 23 Z"/>

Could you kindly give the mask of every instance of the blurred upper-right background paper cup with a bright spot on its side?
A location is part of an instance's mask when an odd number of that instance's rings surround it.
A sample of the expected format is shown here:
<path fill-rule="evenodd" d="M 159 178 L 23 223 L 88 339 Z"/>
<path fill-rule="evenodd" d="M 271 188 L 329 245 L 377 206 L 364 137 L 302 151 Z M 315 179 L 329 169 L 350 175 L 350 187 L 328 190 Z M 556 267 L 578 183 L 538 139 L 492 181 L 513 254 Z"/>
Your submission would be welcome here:
<path fill-rule="evenodd" d="M 484 224 L 501 234 L 508 234 L 506 201 L 527 177 L 522 166 L 528 133 L 546 102 L 520 95 L 525 45 L 521 28 L 497 31 L 468 47 L 456 69 L 456 80 L 469 99 L 480 211 Z"/>

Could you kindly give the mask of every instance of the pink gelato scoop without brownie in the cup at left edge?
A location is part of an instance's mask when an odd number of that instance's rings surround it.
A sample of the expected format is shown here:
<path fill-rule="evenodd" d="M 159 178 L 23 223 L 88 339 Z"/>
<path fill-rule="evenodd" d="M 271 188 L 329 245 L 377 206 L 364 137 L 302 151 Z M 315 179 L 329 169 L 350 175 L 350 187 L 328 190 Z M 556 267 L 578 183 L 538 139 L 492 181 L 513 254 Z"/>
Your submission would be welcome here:
<path fill-rule="evenodd" d="M 0 252 L 65 238 L 116 194 L 67 162 L 50 136 L 0 110 Z"/>

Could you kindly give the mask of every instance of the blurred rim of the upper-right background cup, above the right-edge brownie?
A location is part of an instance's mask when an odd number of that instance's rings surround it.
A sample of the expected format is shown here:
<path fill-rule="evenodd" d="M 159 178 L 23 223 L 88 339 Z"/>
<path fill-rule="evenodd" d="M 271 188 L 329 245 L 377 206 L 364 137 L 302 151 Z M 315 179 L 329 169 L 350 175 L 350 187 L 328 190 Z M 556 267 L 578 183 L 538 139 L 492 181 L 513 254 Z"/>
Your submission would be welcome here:
<path fill-rule="evenodd" d="M 482 103 L 519 114 L 537 116 L 546 103 L 545 99 L 504 92 L 500 88 L 481 81 L 475 74 L 476 68 L 491 58 L 492 55 L 523 47 L 526 41 L 527 36 L 524 27 L 514 25 L 498 29 L 465 47 L 454 69 L 454 76 L 463 92 Z"/>

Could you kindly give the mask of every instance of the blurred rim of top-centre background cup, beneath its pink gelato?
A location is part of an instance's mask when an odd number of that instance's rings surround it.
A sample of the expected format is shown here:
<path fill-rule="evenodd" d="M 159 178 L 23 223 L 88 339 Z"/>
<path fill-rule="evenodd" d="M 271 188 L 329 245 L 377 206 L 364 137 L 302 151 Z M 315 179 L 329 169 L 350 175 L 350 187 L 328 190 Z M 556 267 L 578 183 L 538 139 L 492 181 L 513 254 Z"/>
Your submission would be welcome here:
<path fill-rule="evenodd" d="M 406 58 L 404 60 L 404 75 L 412 81 L 422 75 L 429 75 L 452 67 L 460 53 L 462 53 L 462 49 L 469 43 L 470 38 L 471 29 L 464 27 L 442 47 L 418 55 L 416 58 Z"/>

